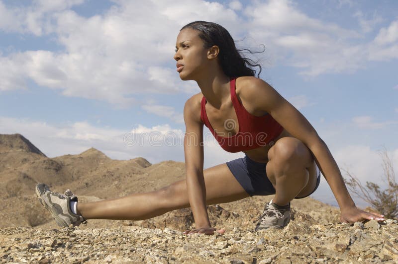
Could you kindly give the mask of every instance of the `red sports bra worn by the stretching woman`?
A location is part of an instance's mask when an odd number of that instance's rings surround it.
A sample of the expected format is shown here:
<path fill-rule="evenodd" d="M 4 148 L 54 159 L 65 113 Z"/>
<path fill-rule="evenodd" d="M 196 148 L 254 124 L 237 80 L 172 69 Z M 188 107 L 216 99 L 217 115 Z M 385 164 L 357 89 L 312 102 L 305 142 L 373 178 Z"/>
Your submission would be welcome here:
<path fill-rule="evenodd" d="M 200 118 L 225 151 L 239 152 L 266 146 L 276 138 L 284 128 L 275 121 L 270 114 L 257 117 L 247 112 L 236 97 L 235 80 L 236 79 L 231 79 L 229 86 L 232 104 L 236 116 L 238 117 L 239 131 L 231 137 L 217 135 L 207 119 L 206 109 L 204 108 L 207 100 L 204 96 L 200 105 Z M 233 122 L 233 120 L 231 120 L 231 122 Z M 228 121 L 226 121 L 224 125 L 228 126 Z"/>

